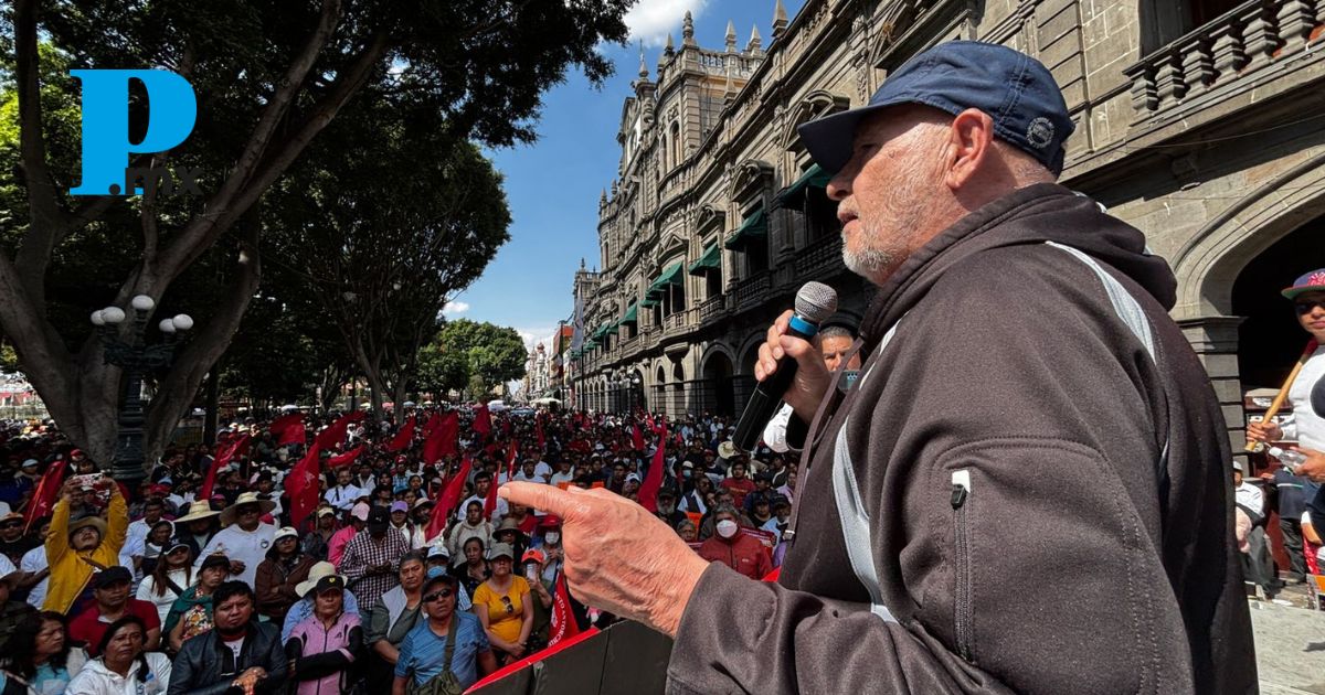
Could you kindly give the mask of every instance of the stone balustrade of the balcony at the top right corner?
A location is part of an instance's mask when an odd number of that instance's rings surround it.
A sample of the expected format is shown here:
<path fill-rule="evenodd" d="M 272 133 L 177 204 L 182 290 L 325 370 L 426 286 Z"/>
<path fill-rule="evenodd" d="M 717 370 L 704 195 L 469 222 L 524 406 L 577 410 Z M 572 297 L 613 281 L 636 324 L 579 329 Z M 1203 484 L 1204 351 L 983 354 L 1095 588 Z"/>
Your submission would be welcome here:
<path fill-rule="evenodd" d="M 1325 0 L 1248 0 L 1146 56 L 1124 73 L 1142 116 L 1199 97 L 1305 46 L 1325 24 Z"/>

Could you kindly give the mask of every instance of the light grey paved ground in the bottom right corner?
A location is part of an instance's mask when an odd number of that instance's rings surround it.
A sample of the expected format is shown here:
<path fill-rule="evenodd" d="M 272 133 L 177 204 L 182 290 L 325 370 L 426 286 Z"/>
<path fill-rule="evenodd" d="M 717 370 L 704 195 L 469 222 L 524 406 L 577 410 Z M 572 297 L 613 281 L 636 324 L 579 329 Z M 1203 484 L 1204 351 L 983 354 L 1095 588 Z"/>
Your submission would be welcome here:
<path fill-rule="evenodd" d="M 1260 691 L 1325 695 L 1325 612 L 1297 608 L 1308 604 L 1305 592 L 1280 596 L 1295 606 L 1251 601 Z"/>

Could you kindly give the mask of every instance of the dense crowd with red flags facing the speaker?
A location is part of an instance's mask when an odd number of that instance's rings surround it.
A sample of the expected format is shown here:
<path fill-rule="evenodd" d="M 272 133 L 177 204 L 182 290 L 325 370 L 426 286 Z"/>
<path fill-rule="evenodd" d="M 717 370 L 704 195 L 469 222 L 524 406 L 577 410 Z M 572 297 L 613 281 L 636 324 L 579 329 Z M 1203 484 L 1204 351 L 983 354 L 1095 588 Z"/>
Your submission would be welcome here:
<path fill-rule="evenodd" d="M 444 413 L 439 455 L 424 422 Z M 559 519 L 498 498 L 509 479 L 604 487 L 710 561 L 772 571 L 795 469 L 729 429 L 485 406 L 246 418 L 129 490 L 53 422 L 7 422 L 0 695 L 458 691 L 549 646 L 556 620 L 616 620 L 566 592 Z M 292 491 L 309 463 L 315 496 Z"/>

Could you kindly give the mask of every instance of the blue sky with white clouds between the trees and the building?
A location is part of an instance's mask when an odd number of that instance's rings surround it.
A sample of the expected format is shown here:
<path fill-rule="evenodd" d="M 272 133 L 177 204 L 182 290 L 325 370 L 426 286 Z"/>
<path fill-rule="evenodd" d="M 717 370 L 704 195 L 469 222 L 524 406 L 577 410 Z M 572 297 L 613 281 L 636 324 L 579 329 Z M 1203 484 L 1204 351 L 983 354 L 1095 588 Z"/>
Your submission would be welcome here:
<path fill-rule="evenodd" d="M 804 0 L 783 0 L 795 19 Z M 616 130 L 621 102 L 639 73 L 637 41 L 645 65 L 657 66 L 666 33 L 681 40 L 681 17 L 694 16 L 701 46 L 721 48 L 727 20 L 745 48 L 755 25 L 768 48 L 772 0 L 640 0 L 627 16 L 629 46 L 604 45 L 616 74 L 600 89 L 571 73 L 547 93 L 535 143 L 492 152 L 506 177 L 513 222 L 510 241 L 482 278 L 448 304 L 447 316 L 514 327 L 527 344 L 546 340 L 572 308 L 571 282 L 580 258 L 598 265 L 598 199 L 612 185 L 620 151 Z"/>

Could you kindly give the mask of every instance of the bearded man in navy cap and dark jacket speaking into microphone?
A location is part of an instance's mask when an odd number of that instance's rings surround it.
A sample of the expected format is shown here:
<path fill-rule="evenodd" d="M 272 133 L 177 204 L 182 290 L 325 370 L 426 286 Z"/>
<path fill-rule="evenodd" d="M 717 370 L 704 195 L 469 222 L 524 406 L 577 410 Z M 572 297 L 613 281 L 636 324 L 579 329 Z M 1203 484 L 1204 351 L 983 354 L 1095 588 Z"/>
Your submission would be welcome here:
<path fill-rule="evenodd" d="M 563 519 L 572 593 L 676 637 L 669 692 L 1256 688 L 1223 416 L 1167 263 L 1053 183 L 1071 131 L 1043 65 L 965 41 L 802 126 L 878 293 L 845 393 L 790 312 L 759 349 L 808 442 L 776 582 L 603 490 L 502 488 Z"/>

